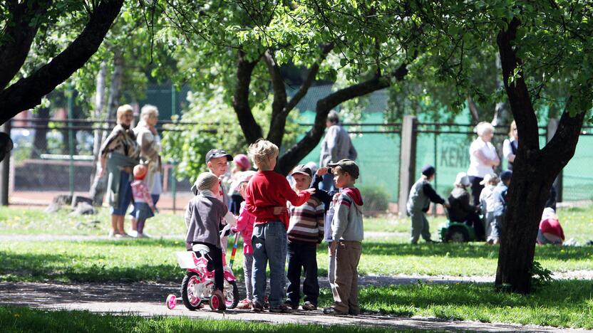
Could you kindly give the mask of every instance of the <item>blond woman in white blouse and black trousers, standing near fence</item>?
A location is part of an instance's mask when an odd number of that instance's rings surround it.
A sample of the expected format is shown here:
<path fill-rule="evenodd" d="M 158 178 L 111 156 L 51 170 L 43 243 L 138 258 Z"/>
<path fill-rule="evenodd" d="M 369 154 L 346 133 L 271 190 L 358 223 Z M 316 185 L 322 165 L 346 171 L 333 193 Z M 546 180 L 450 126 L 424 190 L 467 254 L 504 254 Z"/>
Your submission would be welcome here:
<path fill-rule="evenodd" d="M 468 176 L 472 183 L 473 204 L 480 204 L 480 192 L 484 188 L 483 181 L 486 174 L 494 172 L 493 166 L 500 164 L 500 159 L 496 154 L 496 149 L 490 142 L 494 135 L 494 127 L 490 122 L 480 122 L 475 131 L 478 132 L 478 138 L 470 145 L 470 167 Z"/>

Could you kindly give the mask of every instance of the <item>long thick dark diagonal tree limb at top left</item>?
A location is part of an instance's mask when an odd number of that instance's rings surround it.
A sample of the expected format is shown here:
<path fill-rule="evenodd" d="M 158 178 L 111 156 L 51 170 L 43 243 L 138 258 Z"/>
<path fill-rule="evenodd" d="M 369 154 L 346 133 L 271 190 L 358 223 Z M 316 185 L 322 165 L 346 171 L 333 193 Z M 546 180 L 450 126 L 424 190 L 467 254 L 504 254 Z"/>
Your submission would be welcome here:
<path fill-rule="evenodd" d="M 22 110 L 35 107 L 41 97 L 67 80 L 98 50 L 105 34 L 118 16 L 123 0 L 103 0 L 91 15 L 82 33 L 48 64 L 0 93 L 0 123 Z"/>

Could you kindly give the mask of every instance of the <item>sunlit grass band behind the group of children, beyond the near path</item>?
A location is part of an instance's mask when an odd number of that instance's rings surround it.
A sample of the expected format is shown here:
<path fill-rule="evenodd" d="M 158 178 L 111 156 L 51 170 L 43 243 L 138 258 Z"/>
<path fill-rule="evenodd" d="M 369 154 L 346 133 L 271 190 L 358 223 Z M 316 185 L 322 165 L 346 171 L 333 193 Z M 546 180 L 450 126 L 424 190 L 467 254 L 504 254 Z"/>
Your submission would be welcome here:
<path fill-rule="evenodd" d="M 174 282 L 183 276 L 175 251 L 182 240 L 86 240 L 0 242 L 0 280 L 9 281 L 147 281 Z M 497 246 L 421 244 L 373 239 L 363 243 L 363 275 L 494 275 Z M 235 270 L 242 278 L 242 251 Z M 317 251 L 319 275 L 326 275 L 327 250 Z M 593 247 L 538 246 L 535 260 L 552 271 L 593 270 Z"/>

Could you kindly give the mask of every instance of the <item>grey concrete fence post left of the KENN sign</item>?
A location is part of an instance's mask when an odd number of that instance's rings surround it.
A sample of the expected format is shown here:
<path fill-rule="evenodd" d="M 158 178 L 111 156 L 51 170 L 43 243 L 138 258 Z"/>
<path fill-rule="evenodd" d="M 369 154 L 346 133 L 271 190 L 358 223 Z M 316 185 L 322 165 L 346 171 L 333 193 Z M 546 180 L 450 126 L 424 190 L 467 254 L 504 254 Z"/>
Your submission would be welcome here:
<path fill-rule="evenodd" d="M 408 194 L 416 176 L 416 117 L 403 117 L 401 127 L 398 213 L 406 213 Z"/>

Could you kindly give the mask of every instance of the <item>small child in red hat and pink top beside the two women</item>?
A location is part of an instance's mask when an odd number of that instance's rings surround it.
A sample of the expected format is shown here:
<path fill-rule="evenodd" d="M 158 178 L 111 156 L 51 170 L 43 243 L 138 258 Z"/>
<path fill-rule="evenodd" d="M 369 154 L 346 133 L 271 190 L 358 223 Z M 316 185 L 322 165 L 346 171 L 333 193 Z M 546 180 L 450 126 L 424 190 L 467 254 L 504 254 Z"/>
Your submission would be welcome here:
<path fill-rule="evenodd" d="M 134 198 L 134 210 L 132 216 L 137 222 L 137 238 L 148 238 L 144 233 L 144 226 L 146 220 L 155 216 L 155 205 L 153 203 L 153 197 L 150 196 L 148 185 L 144 181 L 148 168 L 144 164 L 138 164 L 134 166 L 133 174 L 134 181 L 130 186 L 132 187 L 132 196 Z"/>

